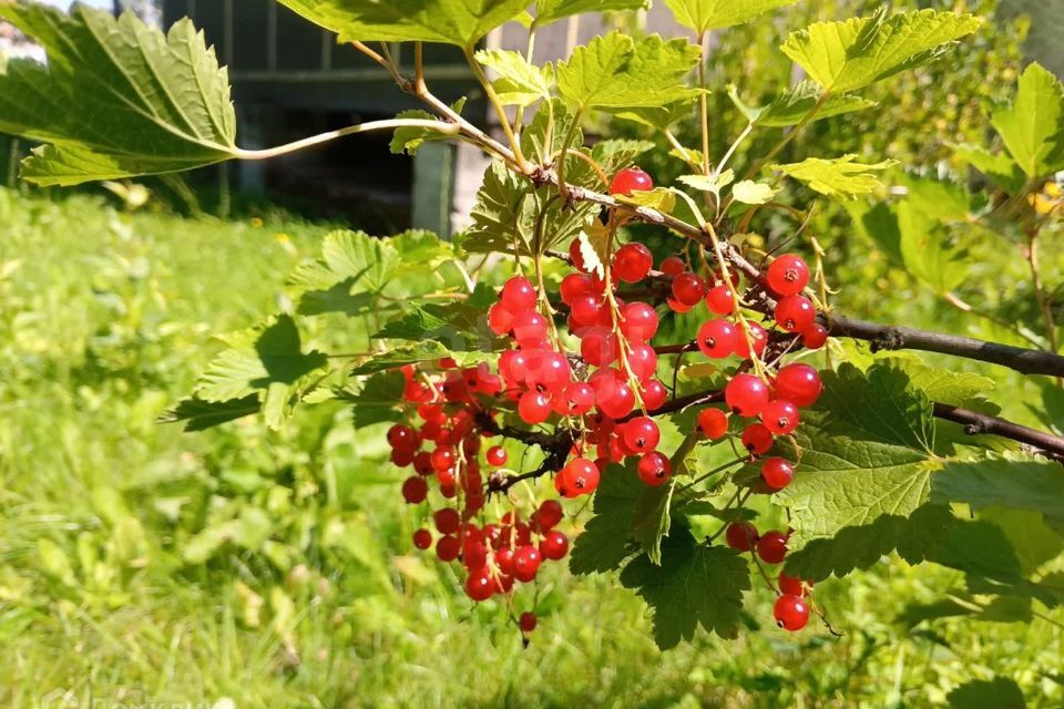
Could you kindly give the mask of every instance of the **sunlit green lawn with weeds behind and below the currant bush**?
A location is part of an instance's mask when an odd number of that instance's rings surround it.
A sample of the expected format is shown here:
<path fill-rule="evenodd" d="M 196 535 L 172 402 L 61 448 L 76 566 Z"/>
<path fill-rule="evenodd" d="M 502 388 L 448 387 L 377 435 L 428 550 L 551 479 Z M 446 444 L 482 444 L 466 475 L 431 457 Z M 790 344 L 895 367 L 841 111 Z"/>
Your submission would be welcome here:
<path fill-rule="evenodd" d="M 842 638 L 776 630 L 755 593 L 739 639 L 664 654 L 630 592 L 553 568 L 522 648 L 410 553 L 380 427 L 155 423 L 326 226 L 2 191 L 0 225 L 3 706 L 924 707 L 995 674 L 1064 701 L 1058 623 L 910 630 L 892 618 L 958 578 L 900 563 L 818 589 Z"/>

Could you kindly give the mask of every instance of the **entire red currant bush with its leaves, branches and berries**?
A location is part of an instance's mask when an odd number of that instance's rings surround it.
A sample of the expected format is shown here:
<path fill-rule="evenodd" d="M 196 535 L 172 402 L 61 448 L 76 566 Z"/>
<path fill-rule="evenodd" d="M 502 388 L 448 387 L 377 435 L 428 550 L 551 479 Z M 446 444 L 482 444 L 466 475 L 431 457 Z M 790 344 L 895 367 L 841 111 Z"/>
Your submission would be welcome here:
<path fill-rule="evenodd" d="M 737 636 L 751 580 L 778 595 L 780 627 L 800 630 L 814 614 L 835 633 L 816 583 L 892 552 L 963 572 L 951 597 L 972 617 L 1058 606 L 1061 574 L 1047 563 L 1064 548 L 1060 422 L 1043 415 L 1043 431 L 1005 420 L 992 379 L 876 352 L 1064 377 L 1056 292 L 1037 257 L 1041 236 L 1060 228 L 1052 177 L 1064 169 L 1064 89 L 1030 65 L 1013 102 L 993 112 L 1002 147 L 955 146 L 985 194 L 904 177 L 903 199 L 861 207 L 855 198 L 882 194 L 894 161 L 780 164 L 781 151 L 815 121 L 873 110 L 862 90 L 947 58 L 981 22 L 884 8 L 795 31 L 781 51 L 806 79 L 763 106 L 730 90 L 746 127 L 730 145 L 710 144 L 707 92 L 725 89 L 707 85 L 708 33 L 794 2 L 666 0 L 694 42 L 610 32 L 535 64 L 542 28 L 644 3 L 539 0 L 529 12 L 526 0 L 282 0 L 424 107 L 260 151 L 237 147 L 225 70 L 190 22 L 164 37 L 132 16 L 3 2 L 0 18 L 40 41 L 49 64 L 7 65 L 0 130 L 43 143 L 22 166 L 39 185 L 264 160 L 380 130 L 395 132 L 395 153 L 451 140 L 489 155 L 473 225 L 454 243 L 329 235 L 321 258 L 291 276 L 294 312 L 231 336 L 167 420 L 197 430 L 257 413 L 276 428 L 300 407 L 340 402 L 357 427 L 391 423 L 391 460 L 412 469 L 401 495 L 426 520 L 412 544 L 458 564 L 472 599 L 502 598 L 524 636 L 538 620 L 536 595 L 523 589 L 542 562 L 565 557 L 576 574 L 620 572 L 653 607 L 663 648 L 698 627 Z M 478 50 L 511 21 L 528 28 L 528 51 Z M 388 42 L 412 43 L 412 66 L 397 64 Z M 464 52 L 500 138 L 463 117 L 462 102 L 433 95 L 426 42 Z M 684 145 L 672 129 L 690 115 L 700 141 Z M 654 186 L 638 168 L 651 142 L 589 147 L 585 121 L 603 116 L 666 141 L 683 166 L 676 184 Z M 770 150 L 744 152 L 766 133 L 778 138 Z M 830 201 L 968 310 L 953 294 L 969 263 L 952 226 L 1016 228 L 1041 328 L 1022 331 L 1033 347 L 836 311 L 828 255 L 807 232 L 815 205 Z M 795 251 L 761 250 L 761 225 L 780 220 Z M 669 234 L 672 246 L 655 258 L 635 225 Z M 310 318 L 328 335 L 306 342 L 299 326 Z M 1045 387 L 1058 400 L 1057 380 Z M 983 514 L 991 507 L 1037 522 L 1044 549 L 1027 554 L 1022 534 Z M 566 517 L 583 527 L 572 542 Z"/>

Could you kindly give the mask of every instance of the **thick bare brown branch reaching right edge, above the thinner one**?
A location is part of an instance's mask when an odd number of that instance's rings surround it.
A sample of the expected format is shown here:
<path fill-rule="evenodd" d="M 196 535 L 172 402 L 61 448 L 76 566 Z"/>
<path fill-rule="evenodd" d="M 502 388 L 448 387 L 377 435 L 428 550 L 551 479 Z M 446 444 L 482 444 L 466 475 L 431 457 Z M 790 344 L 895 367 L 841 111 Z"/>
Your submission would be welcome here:
<path fill-rule="evenodd" d="M 843 316 L 823 316 L 828 331 L 836 337 L 868 340 L 872 350 L 911 349 L 940 352 L 1001 364 L 1023 374 L 1064 377 L 1064 357 L 1042 350 L 986 342 L 968 337 L 930 332 L 904 326 L 877 325 Z"/>

